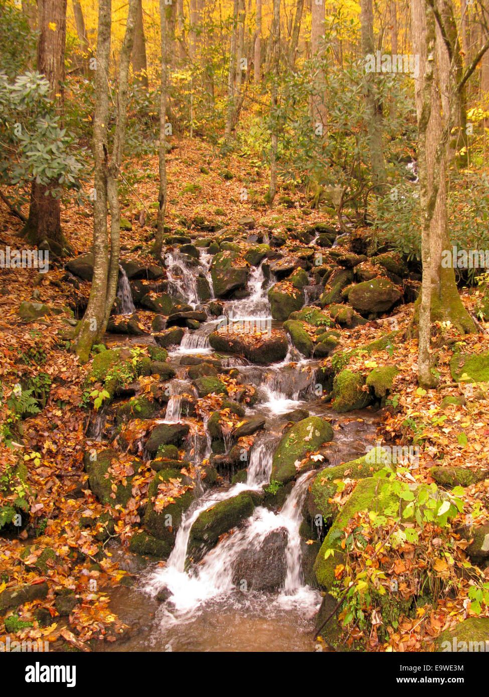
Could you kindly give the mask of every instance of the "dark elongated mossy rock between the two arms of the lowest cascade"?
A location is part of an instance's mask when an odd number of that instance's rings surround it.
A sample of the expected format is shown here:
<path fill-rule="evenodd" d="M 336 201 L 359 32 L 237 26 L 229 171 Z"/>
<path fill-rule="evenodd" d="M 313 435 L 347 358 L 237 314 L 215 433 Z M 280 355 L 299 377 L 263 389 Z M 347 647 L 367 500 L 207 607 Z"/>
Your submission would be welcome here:
<path fill-rule="evenodd" d="M 203 511 L 193 523 L 188 539 L 187 555 L 194 562 L 216 546 L 220 535 L 235 528 L 253 514 L 255 503 L 250 492 L 243 491 Z"/>

